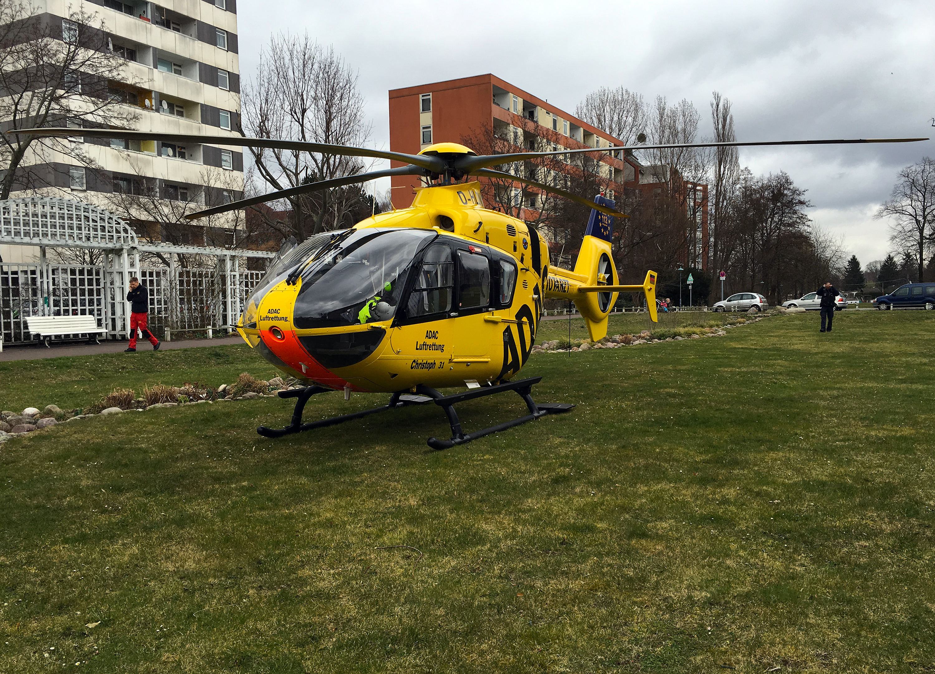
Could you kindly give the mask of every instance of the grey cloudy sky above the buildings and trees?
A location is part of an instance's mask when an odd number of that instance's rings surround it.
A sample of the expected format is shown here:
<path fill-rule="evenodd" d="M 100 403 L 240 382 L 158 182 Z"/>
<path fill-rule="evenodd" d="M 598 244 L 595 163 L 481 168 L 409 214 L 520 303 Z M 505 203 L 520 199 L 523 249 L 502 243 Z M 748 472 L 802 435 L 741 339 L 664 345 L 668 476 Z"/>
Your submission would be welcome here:
<path fill-rule="evenodd" d="M 381 149 L 389 149 L 389 90 L 482 73 L 568 112 L 601 86 L 687 98 L 703 115 L 703 134 L 716 90 L 733 104 L 740 140 L 935 136 L 931 0 L 238 6 L 243 77 L 273 33 L 307 31 L 334 45 L 359 70 Z M 741 149 L 741 166 L 786 171 L 808 191 L 813 222 L 867 263 L 889 250 L 885 222 L 872 214 L 897 171 L 933 154 L 935 141 Z"/>

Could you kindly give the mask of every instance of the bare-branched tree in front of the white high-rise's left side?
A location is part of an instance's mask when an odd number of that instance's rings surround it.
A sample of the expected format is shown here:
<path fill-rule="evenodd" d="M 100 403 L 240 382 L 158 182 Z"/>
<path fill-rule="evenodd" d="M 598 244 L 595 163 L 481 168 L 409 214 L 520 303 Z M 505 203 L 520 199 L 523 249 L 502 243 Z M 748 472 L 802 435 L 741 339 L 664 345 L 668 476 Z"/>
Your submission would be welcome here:
<path fill-rule="evenodd" d="M 16 136 L 15 130 L 65 123 L 131 126 L 137 113 L 108 87 L 127 83 L 124 63 L 110 49 L 107 26 L 83 6 L 57 20 L 24 0 L 0 0 L 0 123 L 6 132 L 0 134 L 0 199 L 11 192 L 54 187 L 43 154 L 62 152 L 96 167 L 81 143 Z M 46 166 L 30 170 L 34 164 Z"/>

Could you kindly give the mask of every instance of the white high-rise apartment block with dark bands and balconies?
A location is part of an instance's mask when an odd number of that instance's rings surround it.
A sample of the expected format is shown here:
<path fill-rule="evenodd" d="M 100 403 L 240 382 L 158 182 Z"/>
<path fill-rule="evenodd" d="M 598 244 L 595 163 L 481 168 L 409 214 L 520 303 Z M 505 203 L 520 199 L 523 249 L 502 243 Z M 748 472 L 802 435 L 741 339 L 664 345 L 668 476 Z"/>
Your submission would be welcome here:
<path fill-rule="evenodd" d="M 111 82 L 109 93 L 137 111 L 137 130 L 237 135 L 236 0 L 163 0 L 160 5 L 133 0 L 34 0 L 33 7 L 43 21 L 62 22 L 65 37 L 72 29 L 67 19 L 72 11 L 83 8 L 103 20 L 109 47 L 125 59 L 125 79 L 131 82 Z M 72 142 L 80 142 L 81 151 L 100 168 L 86 169 L 65 152 L 37 151 L 27 157 L 22 170 L 44 172 L 57 188 L 43 192 L 65 197 L 70 193 L 71 198 L 105 208 L 108 194 L 133 193 L 140 179 L 157 185 L 159 196 L 167 200 L 184 202 L 205 194 L 218 204 L 243 192 L 243 149 L 236 146 L 80 137 Z M 206 175 L 213 177 L 207 187 Z M 145 234 L 158 237 L 152 224 Z M 197 230 L 193 232 L 191 242 L 200 243 Z M 12 257 L 30 254 L 29 249 L 19 248 L 3 251 L 4 260 L 14 262 Z"/>

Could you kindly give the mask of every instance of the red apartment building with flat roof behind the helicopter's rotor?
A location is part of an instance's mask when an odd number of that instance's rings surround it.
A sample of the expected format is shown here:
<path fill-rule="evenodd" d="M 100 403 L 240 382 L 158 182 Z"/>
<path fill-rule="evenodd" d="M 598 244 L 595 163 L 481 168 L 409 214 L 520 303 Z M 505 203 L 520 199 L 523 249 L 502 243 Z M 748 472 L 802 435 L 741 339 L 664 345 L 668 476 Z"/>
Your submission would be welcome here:
<path fill-rule="evenodd" d="M 390 149 L 416 154 L 432 143 L 464 142 L 467 137 L 498 136 L 511 138 L 508 151 L 542 149 L 579 150 L 586 147 L 607 148 L 624 143 L 603 130 L 573 117 L 561 108 L 513 86 L 494 75 L 451 79 L 394 89 L 390 99 Z M 473 148 L 484 153 L 481 148 Z M 668 171 L 642 165 L 637 158 L 622 151 L 600 155 L 596 172 L 607 184 L 608 196 L 639 190 L 643 196 L 660 194 Z M 393 163 L 393 165 L 398 165 Z M 567 166 L 570 170 L 570 166 Z M 499 170 L 507 170 L 501 167 Z M 486 179 L 481 179 L 482 181 Z M 539 179 L 539 181 L 544 181 Z M 392 179 L 393 205 L 408 208 L 412 190 L 421 179 L 396 176 Z M 705 268 L 708 261 L 708 186 L 682 183 L 684 203 L 697 213 L 694 231 L 686 232 L 683 264 Z M 517 184 L 517 188 L 522 187 Z M 528 193 L 527 193 L 528 194 Z M 523 212 L 536 208 L 536 195 L 527 197 Z"/>

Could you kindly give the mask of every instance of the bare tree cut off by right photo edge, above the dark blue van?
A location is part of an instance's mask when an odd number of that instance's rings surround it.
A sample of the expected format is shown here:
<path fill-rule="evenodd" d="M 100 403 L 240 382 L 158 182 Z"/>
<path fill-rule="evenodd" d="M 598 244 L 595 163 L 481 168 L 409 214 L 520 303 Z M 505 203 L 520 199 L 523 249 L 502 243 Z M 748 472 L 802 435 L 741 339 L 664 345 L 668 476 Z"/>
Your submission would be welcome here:
<path fill-rule="evenodd" d="M 899 171 L 899 181 L 874 217 L 890 219 L 890 240 L 900 250 L 912 251 L 922 282 L 926 251 L 935 245 L 935 160 L 924 157 Z"/>

